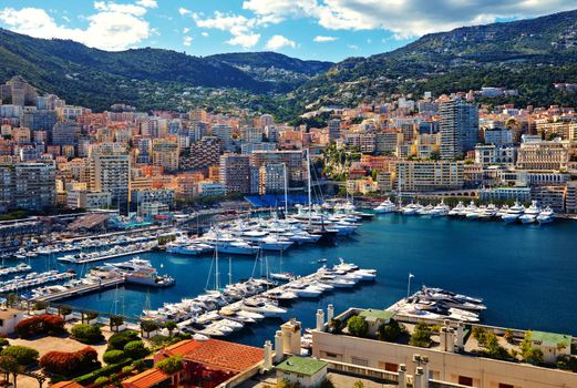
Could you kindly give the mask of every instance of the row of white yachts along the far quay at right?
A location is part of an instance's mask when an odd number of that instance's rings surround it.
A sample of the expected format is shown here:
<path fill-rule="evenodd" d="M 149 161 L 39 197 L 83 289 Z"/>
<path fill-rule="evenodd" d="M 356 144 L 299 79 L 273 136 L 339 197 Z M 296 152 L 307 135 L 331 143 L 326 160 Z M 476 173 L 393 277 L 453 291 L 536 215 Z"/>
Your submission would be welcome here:
<path fill-rule="evenodd" d="M 392 213 L 396 212 L 398 207 L 390 201 L 385 200 L 379 204 L 375 208 L 375 213 Z M 440 204 L 433 205 L 421 205 L 419 203 L 410 203 L 399 208 L 399 212 L 403 215 L 423 215 L 431 217 L 465 217 L 467 219 L 491 219 L 501 218 L 505 223 L 522 222 L 523 224 L 547 224 L 554 221 L 555 212 L 549 207 L 542 208 L 537 205 L 536 201 L 533 201 L 530 206 L 525 207 L 518 202 L 515 202 L 511 207 L 503 205 L 497 207 L 494 204 L 477 206 L 474 201 L 471 201 L 468 205 L 463 202 L 451 208 L 443 201 Z"/>

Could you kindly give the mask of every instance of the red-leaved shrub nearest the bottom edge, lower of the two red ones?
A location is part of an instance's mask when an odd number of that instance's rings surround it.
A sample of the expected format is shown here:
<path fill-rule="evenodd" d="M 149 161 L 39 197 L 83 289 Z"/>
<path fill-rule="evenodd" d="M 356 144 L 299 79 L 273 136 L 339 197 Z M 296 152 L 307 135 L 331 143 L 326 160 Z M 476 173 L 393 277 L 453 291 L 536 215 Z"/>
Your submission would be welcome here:
<path fill-rule="evenodd" d="M 91 347 L 74 353 L 50 351 L 40 358 L 40 366 L 51 375 L 72 377 L 100 367 L 99 354 Z"/>

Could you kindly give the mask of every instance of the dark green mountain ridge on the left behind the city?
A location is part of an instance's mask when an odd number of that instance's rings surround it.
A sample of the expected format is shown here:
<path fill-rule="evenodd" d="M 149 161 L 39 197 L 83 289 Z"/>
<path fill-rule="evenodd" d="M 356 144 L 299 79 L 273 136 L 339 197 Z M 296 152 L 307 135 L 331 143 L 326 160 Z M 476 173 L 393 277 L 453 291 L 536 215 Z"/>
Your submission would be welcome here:
<path fill-rule="evenodd" d="M 106 52 L 69 40 L 35 39 L 3 29 L 0 29 L 0 58 L 1 82 L 22 75 L 43 92 L 99 110 L 117 101 L 152 108 L 146 94 L 164 94 L 185 86 L 234 88 L 256 94 L 287 91 L 286 85 L 259 80 L 249 71 L 238 69 L 243 63 L 240 58 L 227 59 L 235 62 L 231 65 L 216 57 L 198 58 L 150 48 Z M 301 84 L 316 68 L 328 68 L 322 62 L 309 63 L 271 53 L 250 55 L 255 62 L 259 58 L 266 58 L 269 68 L 299 74 L 300 79 L 293 81 L 291 88 Z"/>

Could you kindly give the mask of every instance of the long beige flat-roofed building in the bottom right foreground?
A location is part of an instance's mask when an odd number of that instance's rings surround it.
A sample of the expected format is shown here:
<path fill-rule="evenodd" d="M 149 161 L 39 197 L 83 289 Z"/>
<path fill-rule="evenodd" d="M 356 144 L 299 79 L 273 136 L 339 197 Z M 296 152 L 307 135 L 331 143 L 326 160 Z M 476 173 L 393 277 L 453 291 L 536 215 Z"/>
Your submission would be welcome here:
<path fill-rule="evenodd" d="M 336 319 L 346 321 L 356 312 L 350 309 Z M 405 323 L 403 317 L 396 316 L 395 319 Z M 505 330 L 494 329 L 502 333 Z M 392 381 L 403 380 L 409 384 L 414 384 L 419 379 L 421 387 L 431 385 L 480 388 L 577 387 L 577 374 L 570 371 L 475 356 L 471 353 L 470 344 L 474 340 L 472 337 L 464 339 L 463 327 L 461 329 L 442 327 L 440 331 L 445 335 L 444 338 L 440 337 L 440 345 L 421 348 L 372 338 L 331 334 L 317 328 L 312 331 L 312 356 L 329 363 L 329 369 Z M 523 331 L 516 335 L 522 336 Z M 458 348 L 463 349 L 463 354 L 454 353 Z M 426 377 L 429 384 L 425 381 L 423 385 Z"/>

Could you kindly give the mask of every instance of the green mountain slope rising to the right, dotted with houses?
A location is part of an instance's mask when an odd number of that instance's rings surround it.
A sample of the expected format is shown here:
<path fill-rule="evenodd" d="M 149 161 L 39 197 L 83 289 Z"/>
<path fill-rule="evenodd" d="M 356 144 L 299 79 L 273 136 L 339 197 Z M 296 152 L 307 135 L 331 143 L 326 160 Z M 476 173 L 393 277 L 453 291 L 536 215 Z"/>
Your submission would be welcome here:
<path fill-rule="evenodd" d="M 519 92 L 511 102 L 577 105 L 575 94 L 553 86 L 576 81 L 577 11 L 569 11 L 432 33 L 388 53 L 351 58 L 305 83 L 288 103 L 301 112 L 387 100 L 394 93 L 504 86 Z"/>

